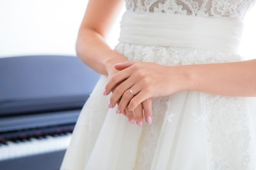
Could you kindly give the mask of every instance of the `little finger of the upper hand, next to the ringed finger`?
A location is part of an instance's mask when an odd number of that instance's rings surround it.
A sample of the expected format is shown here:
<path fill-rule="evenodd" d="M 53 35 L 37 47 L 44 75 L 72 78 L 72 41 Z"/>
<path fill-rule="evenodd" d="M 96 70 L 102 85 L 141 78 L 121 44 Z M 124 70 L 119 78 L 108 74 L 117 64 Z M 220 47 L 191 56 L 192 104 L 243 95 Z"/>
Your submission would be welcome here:
<path fill-rule="evenodd" d="M 136 96 L 132 97 L 130 103 L 128 104 L 127 108 L 129 111 L 134 111 L 134 109 L 145 99 L 148 99 L 150 96 L 150 90 L 142 89 Z M 122 101 L 121 101 L 122 102 Z"/>

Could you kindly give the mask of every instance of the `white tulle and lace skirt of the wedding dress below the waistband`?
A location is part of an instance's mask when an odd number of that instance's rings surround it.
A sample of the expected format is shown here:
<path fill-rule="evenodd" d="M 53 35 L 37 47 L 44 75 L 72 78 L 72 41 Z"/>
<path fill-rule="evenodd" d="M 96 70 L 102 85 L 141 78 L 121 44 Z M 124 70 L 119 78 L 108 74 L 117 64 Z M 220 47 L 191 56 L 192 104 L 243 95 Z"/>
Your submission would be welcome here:
<path fill-rule="evenodd" d="M 234 52 L 119 42 L 129 60 L 164 66 L 244 60 Z M 256 97 L 183 90 L 153 97 L 152 124 L 131 124 L 103 96 L 102 75 L 81 110 L 61 164 L 67 169 L 256 169 Z"/>

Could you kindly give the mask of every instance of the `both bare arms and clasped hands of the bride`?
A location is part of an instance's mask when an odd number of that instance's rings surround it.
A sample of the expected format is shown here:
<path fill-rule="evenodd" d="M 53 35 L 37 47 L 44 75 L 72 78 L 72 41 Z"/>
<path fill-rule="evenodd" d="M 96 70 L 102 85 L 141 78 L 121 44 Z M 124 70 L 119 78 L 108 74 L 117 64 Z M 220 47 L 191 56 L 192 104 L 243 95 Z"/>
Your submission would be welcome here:
<path fill-rule="evenodd" d="M 152 97 L 169 96 L 181 90 L 223 96 L 256 96 L 255 59 L 161 66 L 154 62 L 129 61 L 111 50 L 105 42 L 106 36 L 123 3 L 121 0 L 89 1 L 76 43 L 77 56 L 84 64 L 108 76 L 104 95 L 112 92 L 110 108 L 118 104 L 120 112 L 129 120 L 135 119 L 141 127 L 143 118 L 147 121 L 152 117 Z M 129 92 L 130 87 L 135 96 Z"/>

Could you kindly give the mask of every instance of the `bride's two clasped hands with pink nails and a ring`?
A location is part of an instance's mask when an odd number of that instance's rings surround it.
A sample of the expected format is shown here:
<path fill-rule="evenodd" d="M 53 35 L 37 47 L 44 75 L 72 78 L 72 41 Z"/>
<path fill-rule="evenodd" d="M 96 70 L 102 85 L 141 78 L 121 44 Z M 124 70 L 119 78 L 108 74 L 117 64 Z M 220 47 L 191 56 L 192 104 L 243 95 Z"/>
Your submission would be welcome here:
<path fill-rule="evenodd" d="M 116 113 L 123 113 L 132 124 L 136 120 L 140 127 L 144 117 L 151 124 L 152 97 L 168 96 L 186 89 L 179 66 L 128 60 L 113 67 L 119 71 L 109 75 L 104 92 L 104 95 L 112 92 L 109 108 L 118 104 Z M 134 95 L 129 91 L 130 88 Z"/>

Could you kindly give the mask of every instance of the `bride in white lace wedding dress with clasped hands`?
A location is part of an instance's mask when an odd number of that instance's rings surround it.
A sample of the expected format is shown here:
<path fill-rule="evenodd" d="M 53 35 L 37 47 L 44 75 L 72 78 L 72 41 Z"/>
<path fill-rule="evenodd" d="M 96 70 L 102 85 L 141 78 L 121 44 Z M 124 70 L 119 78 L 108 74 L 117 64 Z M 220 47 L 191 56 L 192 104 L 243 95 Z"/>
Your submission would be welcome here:
<path fill-rule="evenodd" d="M 237 54 L 255 1 L 89 1 L 77 57 L 102 76 L 61 169 L 256 169 L 256 59 Z"/>

